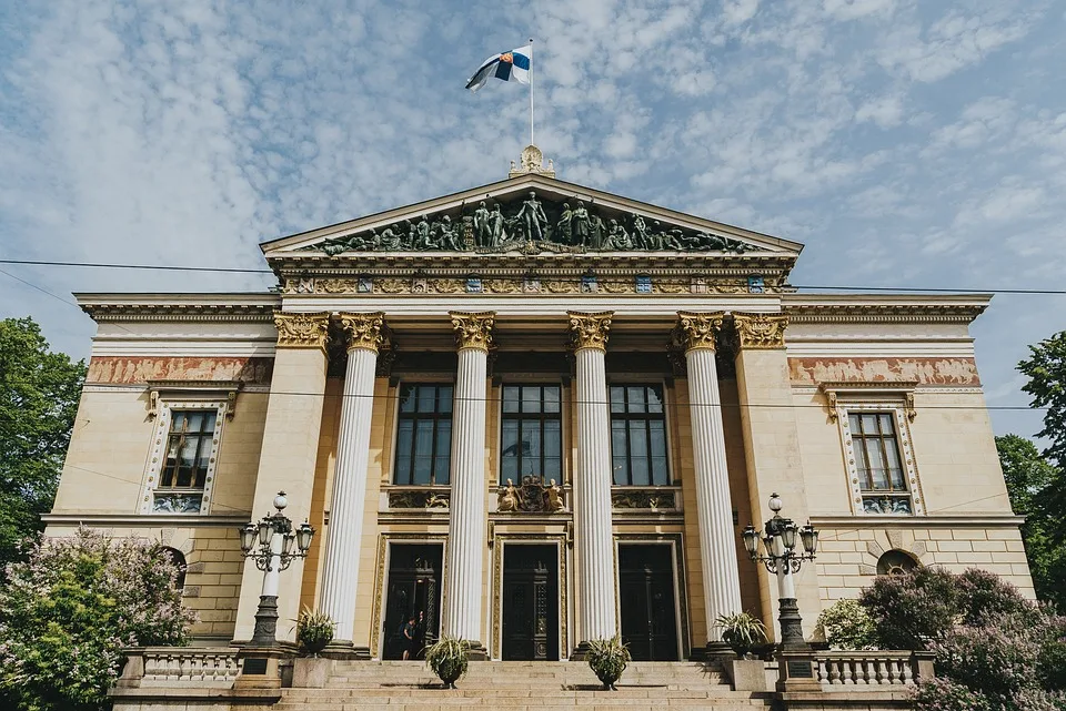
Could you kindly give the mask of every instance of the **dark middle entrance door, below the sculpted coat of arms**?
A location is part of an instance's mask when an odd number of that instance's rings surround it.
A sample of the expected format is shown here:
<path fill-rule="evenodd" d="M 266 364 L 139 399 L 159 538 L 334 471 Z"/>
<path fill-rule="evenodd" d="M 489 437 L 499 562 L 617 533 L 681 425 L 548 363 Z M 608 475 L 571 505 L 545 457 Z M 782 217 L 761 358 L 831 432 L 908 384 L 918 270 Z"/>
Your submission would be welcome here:
<path fill-rule="evenodd" d="M 559 549 L 503 549 L 503 659 L 559 659 Z"/>

